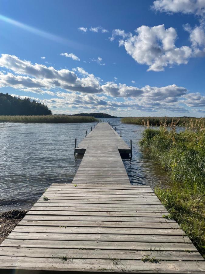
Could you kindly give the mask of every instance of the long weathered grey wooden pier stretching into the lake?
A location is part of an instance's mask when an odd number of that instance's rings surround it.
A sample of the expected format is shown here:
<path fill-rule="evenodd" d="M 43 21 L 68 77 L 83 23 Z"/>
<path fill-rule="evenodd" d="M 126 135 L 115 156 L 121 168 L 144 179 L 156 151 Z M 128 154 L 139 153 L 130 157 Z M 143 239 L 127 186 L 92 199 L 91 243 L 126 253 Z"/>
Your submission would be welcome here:
<path fill-rule="evenodd" d="M 110 125 L 92 130 L 72 184 L 52 184 L 0 245 L 0 273 L 205 273 L 152 189 L 129 183 L 120 149 L 129 147 Z"/>

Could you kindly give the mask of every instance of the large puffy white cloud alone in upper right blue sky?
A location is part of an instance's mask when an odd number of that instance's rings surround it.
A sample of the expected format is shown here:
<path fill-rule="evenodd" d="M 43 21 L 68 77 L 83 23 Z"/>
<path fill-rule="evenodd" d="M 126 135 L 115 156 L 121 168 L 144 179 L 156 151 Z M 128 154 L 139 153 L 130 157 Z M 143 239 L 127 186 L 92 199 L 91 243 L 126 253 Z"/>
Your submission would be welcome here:
<path fill-rule="evenodd" d="M 135 30 L 136 35 L 115 30 L 116 35 L 125 38 L 119 40 L 128 54 L 139 64 L 149 65 L 148 71 L 163 71 L 166 66 L 187 64 L 191 57 L 190 47 L 176 47 L 176 30 L 160 26 L 141 26 Z M 114 37 L 114 36 L 113 36 Z"/>

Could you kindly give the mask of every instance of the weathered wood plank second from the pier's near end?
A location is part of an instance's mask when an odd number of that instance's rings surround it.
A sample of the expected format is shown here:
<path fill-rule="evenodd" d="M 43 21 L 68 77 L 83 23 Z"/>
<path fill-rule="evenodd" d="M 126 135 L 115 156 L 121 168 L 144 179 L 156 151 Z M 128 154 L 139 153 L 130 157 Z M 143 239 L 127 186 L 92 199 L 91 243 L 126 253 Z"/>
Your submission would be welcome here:
<path fill-rule="evenodd" d="M 103 250 L 103 249 L 67 249 L 59 248 L 15 248 L 0 247 L 0 256 L 15 256 L 18 253 L 20 257 L 36 257 L 36 258 L 59 258 L 67 256 L 69 258 L 85 258 L 85 259 L 130 259 L 141 260 L 145 256 L 152 256 L 157 260 L 187 260 L 187 261 L 203 261 L 199 252 L 191 253 L 184 251 L 138 251 L 135 250 Z"/>

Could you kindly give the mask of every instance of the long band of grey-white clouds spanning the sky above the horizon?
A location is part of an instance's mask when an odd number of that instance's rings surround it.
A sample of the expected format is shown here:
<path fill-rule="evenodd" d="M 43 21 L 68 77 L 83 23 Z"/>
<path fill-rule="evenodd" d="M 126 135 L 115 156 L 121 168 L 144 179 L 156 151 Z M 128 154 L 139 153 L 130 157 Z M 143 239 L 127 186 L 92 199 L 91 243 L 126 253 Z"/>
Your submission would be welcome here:
<path fill-rule="evenodd" d="M 102 85 L 102 79 L 80 67 L 73 71 L 57 70 L 8 54 L 2 54 L 0 66 L 5 68 L 0 72 L 0 87 L 9 86 L 25 92 L 46 93 L 53 98 L 41 101 L 56 110 L 77 107 L 78 111 L 87 109 L 121 112 L 124 109 L 185 113 L 188 112 L 186 106 L 200 109 L 205 106 L 204 96 L 200 93 L 188 93 L 186 88 L 177 85 L 147 85 L 142 88 L 116 82 Z"/>

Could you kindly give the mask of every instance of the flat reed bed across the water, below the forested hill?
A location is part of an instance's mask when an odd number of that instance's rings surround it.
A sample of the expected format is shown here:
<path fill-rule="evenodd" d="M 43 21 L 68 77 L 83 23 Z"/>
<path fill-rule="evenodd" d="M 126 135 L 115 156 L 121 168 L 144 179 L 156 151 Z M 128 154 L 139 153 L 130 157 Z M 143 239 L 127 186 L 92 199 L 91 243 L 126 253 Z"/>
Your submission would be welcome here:
<path fill-rule="evenodd" d="M 72 115 L 0 115 L 0 122 L 14 123 L 91 123 L 98 119 L 91 116 Z"/>

